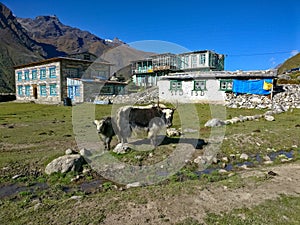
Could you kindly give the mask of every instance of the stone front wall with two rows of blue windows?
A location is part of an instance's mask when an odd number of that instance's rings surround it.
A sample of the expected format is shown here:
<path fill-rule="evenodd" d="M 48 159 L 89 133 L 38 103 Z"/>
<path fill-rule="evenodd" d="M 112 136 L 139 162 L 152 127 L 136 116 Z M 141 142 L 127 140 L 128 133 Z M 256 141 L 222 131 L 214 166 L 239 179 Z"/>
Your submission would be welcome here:
<path fill-rule="evenodd" d="M 60 62 L 15 70 L 16 99 L 50 103 L 62 101 L 60 70 Z"/>

